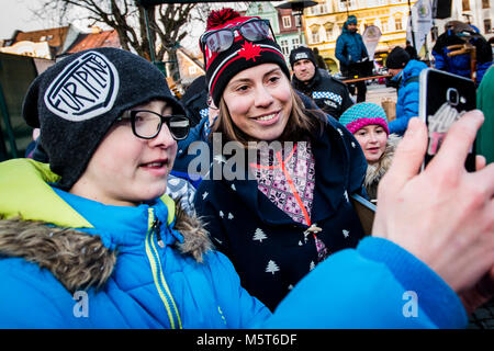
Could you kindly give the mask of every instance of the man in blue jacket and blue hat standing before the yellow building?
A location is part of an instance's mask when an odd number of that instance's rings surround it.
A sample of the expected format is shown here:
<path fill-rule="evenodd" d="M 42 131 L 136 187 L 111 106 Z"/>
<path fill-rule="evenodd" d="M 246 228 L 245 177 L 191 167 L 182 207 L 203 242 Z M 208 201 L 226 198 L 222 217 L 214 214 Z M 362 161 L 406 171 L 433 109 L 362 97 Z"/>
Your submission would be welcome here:
<path fill-rule="evenodd" d="M 357 33 L 357 18 L 349 15 L 343 26 L 343 33 L 336 39 L 335 56 L 339 60 L 339 69 L 344 77 L 356 78 L 368 75 L 369 54 L 362 36 Z M 356 82 L 357 102 L 366 101 L 366 81 Z"/>

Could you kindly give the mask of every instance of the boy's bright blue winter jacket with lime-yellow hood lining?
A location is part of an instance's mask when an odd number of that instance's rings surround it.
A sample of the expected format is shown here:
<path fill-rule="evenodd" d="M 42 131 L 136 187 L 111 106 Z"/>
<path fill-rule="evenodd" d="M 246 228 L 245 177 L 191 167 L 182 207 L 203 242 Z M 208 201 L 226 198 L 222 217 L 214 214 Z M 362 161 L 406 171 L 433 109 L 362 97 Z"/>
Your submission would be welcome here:
<path fill-rule="evenodd" d="M 58 179 L 33 160 L 0 163 L 0 328 L 467 324 L 460 299 L 436 273 L 378 238 L 318 264 L 271 315 L 210 249 L 198 219 L 169 197 L 108 206 L 49 185 Z"/>

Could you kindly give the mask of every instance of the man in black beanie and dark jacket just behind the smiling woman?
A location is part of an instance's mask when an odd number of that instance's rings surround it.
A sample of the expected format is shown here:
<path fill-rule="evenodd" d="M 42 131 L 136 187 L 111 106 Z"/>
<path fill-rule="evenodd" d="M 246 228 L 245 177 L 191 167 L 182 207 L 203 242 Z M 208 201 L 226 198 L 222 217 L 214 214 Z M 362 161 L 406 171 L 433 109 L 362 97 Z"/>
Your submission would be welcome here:
<path fill-rule="evenodd" d="M 324 112 L 336 120 L 353 104 L 347 86 L 330 77 L 322 76 L 316 58 L 308 47 L 300 46 L 290 53 L 292 86 L 310 97 Z"/>

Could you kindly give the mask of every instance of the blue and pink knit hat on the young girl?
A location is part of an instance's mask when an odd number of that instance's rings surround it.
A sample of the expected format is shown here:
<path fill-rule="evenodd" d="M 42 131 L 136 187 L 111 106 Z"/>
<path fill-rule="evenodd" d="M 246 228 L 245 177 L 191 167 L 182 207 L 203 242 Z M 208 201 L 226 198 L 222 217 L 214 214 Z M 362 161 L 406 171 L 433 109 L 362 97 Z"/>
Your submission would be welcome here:
<path fill-rule="evenodd" d="M 390 134 L 386 113 L 380 105 L 371 102 L 361 102 L 352 105 L 341 114 L 339 123 L 346 126 L 351 134 L 370 124 L 380 125 L 386 131 L 388 135 Z"/>

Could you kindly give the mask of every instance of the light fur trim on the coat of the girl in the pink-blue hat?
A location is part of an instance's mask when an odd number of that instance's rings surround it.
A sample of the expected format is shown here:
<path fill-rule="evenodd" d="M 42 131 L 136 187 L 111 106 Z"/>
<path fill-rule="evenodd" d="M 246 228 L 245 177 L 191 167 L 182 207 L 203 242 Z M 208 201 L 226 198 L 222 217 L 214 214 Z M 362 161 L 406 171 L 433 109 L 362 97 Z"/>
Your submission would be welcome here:
<path fill-rule="evenodd" d="M 390 134 L 386 141 L 386 149 L 381 156 L 379 162 L 373 165 L 368 165 L 367 174 L 363 185 L 366 186 L 367 193 L 371 200 L 378 197 L 378 184 L 390 169 L 391 161 L 393 160 L 394 150 L 402 138 L 395 134 Z"/>

